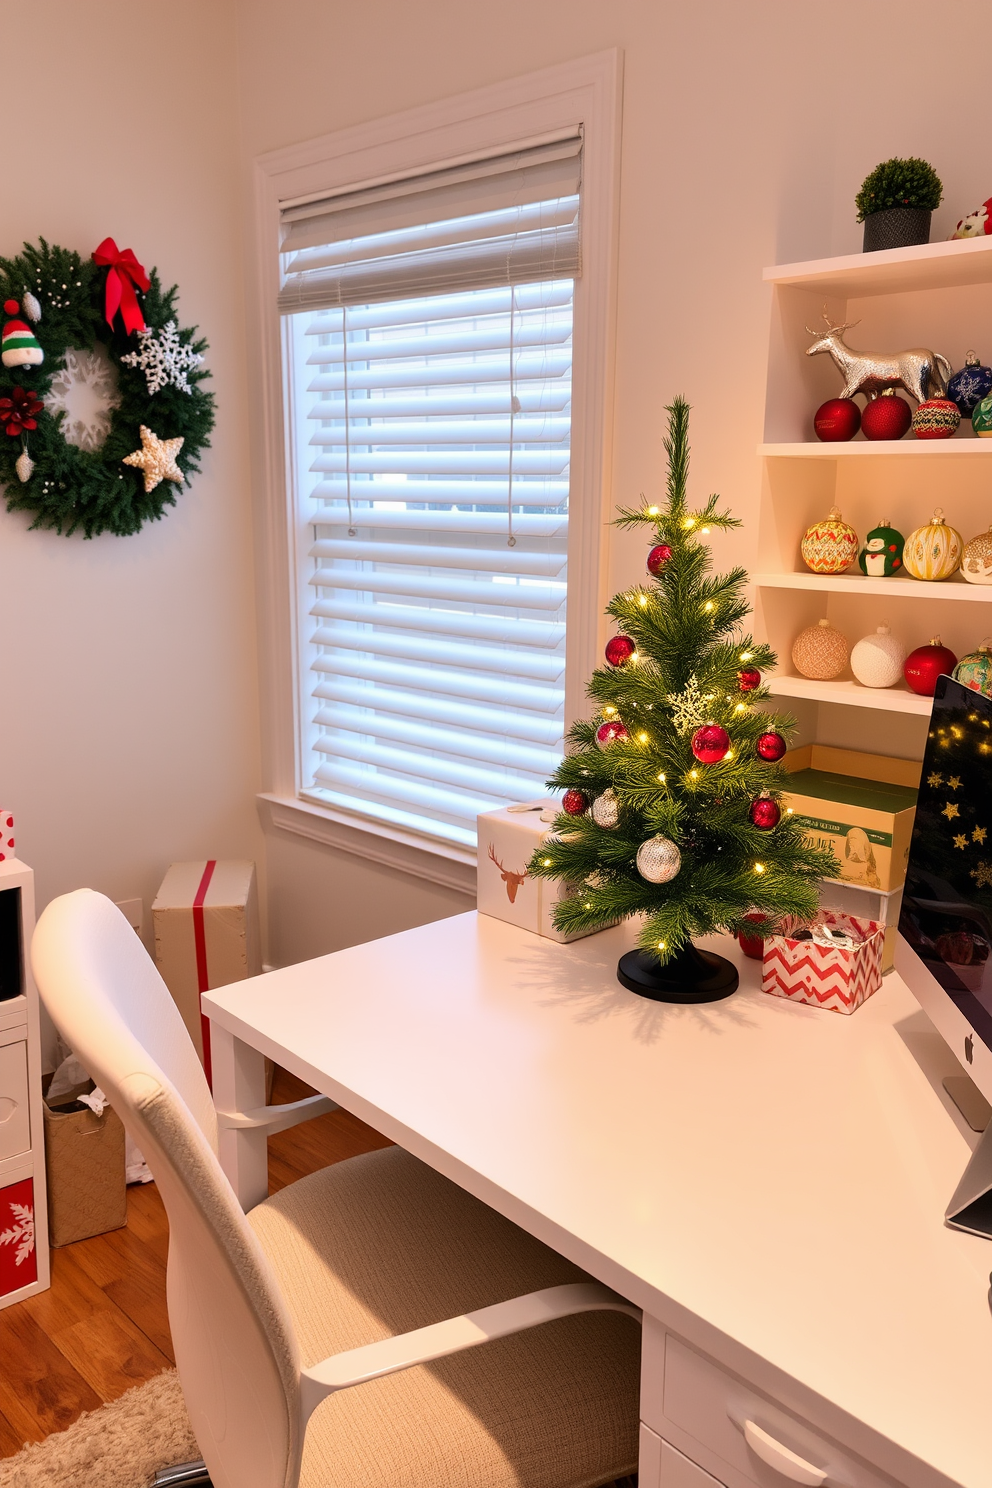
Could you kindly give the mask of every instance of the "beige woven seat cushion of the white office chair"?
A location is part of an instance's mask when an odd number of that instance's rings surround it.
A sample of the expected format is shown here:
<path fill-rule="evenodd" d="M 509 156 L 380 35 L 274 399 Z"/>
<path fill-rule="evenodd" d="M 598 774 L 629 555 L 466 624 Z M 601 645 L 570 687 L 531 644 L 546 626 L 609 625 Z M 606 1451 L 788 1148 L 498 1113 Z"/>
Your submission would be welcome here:
<path fill-rule="evenodd" d="M 400 1147 L 335 1164 L 248 1223 L 305 1364 L 583 1271 Z M 330 1396 L 300 1488 L 595 1488 L 637 1467 L 640 1327 L 586 1312 Z"/>

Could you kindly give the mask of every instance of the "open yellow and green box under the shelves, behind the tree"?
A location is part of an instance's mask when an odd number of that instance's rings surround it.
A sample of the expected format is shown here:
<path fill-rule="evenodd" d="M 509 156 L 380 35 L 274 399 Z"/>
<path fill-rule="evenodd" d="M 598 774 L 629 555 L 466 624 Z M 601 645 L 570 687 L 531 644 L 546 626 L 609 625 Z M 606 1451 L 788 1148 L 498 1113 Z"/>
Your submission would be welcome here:
<path fill-rule="evenodd" d="M 919 765 L 806 744 L 782 762 L 791 772 L 782 808 L 828 847 L 840 879 L 889 893 L 906 881 Z"/>

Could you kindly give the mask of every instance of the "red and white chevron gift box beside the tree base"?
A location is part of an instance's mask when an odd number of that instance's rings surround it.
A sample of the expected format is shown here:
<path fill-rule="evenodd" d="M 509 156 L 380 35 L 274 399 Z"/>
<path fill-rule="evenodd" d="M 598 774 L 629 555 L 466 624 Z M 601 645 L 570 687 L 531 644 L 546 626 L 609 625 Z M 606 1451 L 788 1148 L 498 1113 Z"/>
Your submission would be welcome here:
<path fill-rule="evenodd" d="M 785 921 L 769 936 L 761 991 L 833 1013 L 852 1013 L 882 985 L 885 926 L 821 909 L 809 926 Z"/>

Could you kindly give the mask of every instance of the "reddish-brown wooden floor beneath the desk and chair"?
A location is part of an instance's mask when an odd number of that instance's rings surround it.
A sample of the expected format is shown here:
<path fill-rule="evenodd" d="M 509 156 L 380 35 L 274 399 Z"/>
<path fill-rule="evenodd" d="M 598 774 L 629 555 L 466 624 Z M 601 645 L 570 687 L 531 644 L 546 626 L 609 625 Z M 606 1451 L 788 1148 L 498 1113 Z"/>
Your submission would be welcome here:
<path fill-rule="evenodd" d="M 280 1070 L 274 1101 L 309 1094 Z M 329 1162 L 388 1146 L 348 1112 L 269 1138 L 275 1192 Z M 52 1251 L 52 1286 L 0 1311 L 0 1457 L 62 1431 L 174 1364 L 165 1311 L 168 1222 L 153 1183 L 128 1189 L 126 1229 Z"/>

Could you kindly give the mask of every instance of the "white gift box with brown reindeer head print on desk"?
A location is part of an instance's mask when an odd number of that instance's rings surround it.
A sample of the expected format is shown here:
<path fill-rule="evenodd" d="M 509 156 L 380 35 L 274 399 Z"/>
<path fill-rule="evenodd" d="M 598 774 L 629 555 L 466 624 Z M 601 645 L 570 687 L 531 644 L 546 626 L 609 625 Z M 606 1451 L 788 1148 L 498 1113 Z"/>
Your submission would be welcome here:
<path fill-rule="evenodd" d="M 576 940 L 577 936 L 561 934 L 552 923 L 559 885 L 526 872 L 534 848 L 550 835 L 556 814 L 553 801 L 529 801 L 479 817 L 477 905 L 480 914 L 549 940 Z"/>

